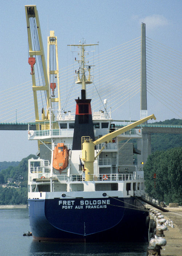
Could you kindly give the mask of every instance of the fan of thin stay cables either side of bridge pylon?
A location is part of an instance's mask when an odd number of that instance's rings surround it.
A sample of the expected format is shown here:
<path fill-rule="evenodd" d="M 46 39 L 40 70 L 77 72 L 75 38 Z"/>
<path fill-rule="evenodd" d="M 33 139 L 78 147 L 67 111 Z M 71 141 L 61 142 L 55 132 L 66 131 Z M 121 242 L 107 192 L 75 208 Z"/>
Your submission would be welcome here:
<path fill-rule="evenodd" d="M 111 108 L 113 119 L 123 120 L 130 117 L 134 120 L 138 119 L 131 115 L 133 109 L 136 111 L 136 107 L 139 112 L 141 37 L 95 54 L 89 59 L 89 64 L 95 66 L 92 74 L 94 82 L 87 87 L 87 98 L 92 98 L 92 111 L 104 108 L 103 100 L 107 99 L 107 110 Z M 77 63 L 73 63 L 59 70 L 63 112 L 75 112 L 74 99 L 78 97 L 80 91 L 79 84 L 75 84 L 77 69 Z M 182 53 L 146 37 L 146 80 L 147 98 L 152 99 L 152 104 L 161 102 L 165 110 L 174 113 L 176 118 L 181 118 Z M 37 77 L 36 81 L 40 86 L 43 84 L 41 77 Z M 45 96 L 39 92 L 40 112 L 44 101 Z M 1 91 L 0 109 L 1 124 L 34 122 L 31 80 Z M 150 106 L 148 110 L 152 111 Z M 162 109 L 158 109 L 158 112 L 160 111 Z M 125 117 L 122 117 L 123 114 Z"/>

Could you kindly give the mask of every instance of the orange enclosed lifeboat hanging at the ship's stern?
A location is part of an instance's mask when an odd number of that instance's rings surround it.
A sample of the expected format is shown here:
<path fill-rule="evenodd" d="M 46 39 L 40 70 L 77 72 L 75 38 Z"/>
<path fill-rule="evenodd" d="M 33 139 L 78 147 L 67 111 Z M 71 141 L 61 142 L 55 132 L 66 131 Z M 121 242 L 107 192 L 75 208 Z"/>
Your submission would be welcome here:
<path fill-rule="evenodd" d="M 53 168 L 61 173 L 68 166 L 69 150 L 64 143 L 58 143 L 53 151 Z"/>

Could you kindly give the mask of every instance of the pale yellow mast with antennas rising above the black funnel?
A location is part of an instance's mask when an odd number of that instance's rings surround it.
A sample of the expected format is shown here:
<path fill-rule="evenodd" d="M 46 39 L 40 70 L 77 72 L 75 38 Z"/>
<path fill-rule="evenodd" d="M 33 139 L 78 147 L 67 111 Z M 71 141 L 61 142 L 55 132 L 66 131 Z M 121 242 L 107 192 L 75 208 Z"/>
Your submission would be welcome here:
<path fill-rule="evenodd" d="M 85 93 L 86 93 L 86 84 L 92 83 L 92 81 L 90 80 L 90 67 L 91 67 L 90 65 L 88 65 L 88 78 L 86 78 L 86 75 L 85 75 L 85 71 L 87 69 L 87 65 L 85 64 L 85 47 L 95 46 L 95 45 L 98 45 L 98 44 L 68 45 L 68 46 L 78 46 L 78 48 L 80 48 L 80 60 L 76 60 L 75 58 L 75 61 L 78 61 L 81 67 L 76 72 L 78 75 L 78 80 L 76 81 L 76 83 L 82 84 L 82 90 L 85 90 Z M 81 78 L 80 78 L 80 75 L 81 75 Z"/>

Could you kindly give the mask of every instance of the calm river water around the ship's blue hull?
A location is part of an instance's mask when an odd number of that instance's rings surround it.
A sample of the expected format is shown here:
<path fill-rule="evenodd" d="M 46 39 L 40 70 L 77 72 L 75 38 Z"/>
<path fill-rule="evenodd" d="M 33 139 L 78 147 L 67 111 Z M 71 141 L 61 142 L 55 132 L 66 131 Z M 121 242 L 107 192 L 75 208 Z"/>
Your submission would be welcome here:
<path fill-rule="evenodd" d="M 27 209 L 0 209 L 2 256 L 146 256 L 148 243 L 37 242 L 23 236 L 30 230 Z"/>

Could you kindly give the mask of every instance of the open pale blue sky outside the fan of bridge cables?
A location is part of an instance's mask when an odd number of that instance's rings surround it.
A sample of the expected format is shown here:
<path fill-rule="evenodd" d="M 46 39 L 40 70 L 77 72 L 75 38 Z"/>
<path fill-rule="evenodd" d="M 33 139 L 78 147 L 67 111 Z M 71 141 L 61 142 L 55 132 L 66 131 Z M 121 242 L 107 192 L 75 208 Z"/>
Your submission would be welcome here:
<path fill-rule="evenodd" d="M 146 35 L 182 52 L 181 0 L 36 0 L 1 2 L 0 88 L 11 88 L 30 80 L 27 27 L 24 5 L 36 4 L 39 12 L 44 50 L 47 36 L 55 30 L 59 40 L 59 67 L 65 67 L 67 44 L 99 41 L 99 50 L 115 47 Z M 32 102 L 33 104 L 33 102 Z M 0 131 L 0 161 L 20 161 L 36 153 L 37 143 L 27 139 L 27 132 Z"/>

